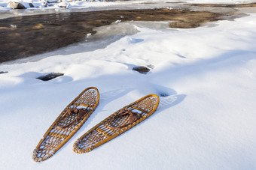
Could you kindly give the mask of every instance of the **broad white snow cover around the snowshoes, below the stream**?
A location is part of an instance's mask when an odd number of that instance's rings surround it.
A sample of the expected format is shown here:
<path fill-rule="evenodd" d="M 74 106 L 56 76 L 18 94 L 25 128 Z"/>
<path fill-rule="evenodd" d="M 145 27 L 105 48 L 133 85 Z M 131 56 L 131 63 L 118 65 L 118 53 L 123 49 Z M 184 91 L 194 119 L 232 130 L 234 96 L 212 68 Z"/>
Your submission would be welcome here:
<path fill-rule="evenodd" d="M 87 43 L 0 64 L 8 71 L 0 74 L 0 169 L 256 169 L 256 13 L 200 28 L 166 25 L 117 22 Z M 146 75 L 132 70 L 149 65 Z M 35 79 L 51 72 L 65 75 Z M 47 128 L 90 86 L 100 92 L 96 111 L 35 163 Z M 72 151 L 87 130 L 147 94 L 165 96 L 154 115 L 90 153 Z"/>

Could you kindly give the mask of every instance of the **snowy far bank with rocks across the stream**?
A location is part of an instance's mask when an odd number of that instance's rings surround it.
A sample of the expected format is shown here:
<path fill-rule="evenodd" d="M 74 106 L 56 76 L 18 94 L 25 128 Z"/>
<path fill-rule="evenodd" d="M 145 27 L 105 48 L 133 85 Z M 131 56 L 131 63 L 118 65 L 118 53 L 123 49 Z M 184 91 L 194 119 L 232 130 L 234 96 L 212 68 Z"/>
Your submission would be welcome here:
<path fill-rule="evenodd" d="M 255 3 L 255 0 L 188 0 L 188 1 L 179 1 L 179 0 L 132 0 L 132 1 L 77 1 L 77 0 L 0 0 L 0 11 L 8 10 L 7 7 L 10 7 L 10 2 L 15 1 L 22 4 L 25 8 L 29 10 L 35 9 L 83 9 L 90 7 L 123 7 L 125 5 L 136 5 L 136 4 L 163 4 L 163 3 L 188 3 L 188 4 L 248 4 Z M 9 8 L 10 9 L 10 8 Z"/>

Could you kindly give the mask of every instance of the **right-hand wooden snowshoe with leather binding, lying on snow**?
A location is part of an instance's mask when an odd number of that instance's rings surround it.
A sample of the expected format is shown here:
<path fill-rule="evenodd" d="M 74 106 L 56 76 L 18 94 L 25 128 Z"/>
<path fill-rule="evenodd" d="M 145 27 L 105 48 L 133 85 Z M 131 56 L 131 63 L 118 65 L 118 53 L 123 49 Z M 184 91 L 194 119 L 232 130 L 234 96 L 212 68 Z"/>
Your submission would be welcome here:
<path fill-rule="evenodd" d="M 120 136 L 151 116 L 157 110 L 158 104 L 159 97 L 156 94 L 149 94 L 123 107 L 84 133 L 74 143 L 73 151 L 78 154 L 90 152 L 105 142 Z"/>

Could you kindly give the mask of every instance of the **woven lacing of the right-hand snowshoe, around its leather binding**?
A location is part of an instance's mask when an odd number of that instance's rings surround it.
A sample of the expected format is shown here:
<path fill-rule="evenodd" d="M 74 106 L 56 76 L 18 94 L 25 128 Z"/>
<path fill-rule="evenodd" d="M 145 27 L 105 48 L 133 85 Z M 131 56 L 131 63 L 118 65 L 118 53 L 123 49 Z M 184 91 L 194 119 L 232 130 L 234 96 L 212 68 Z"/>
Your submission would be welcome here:
<path fill-rule="evenodd" d="M 149 112 L 151 112 L 154 109 L 154 106 L 157 104 L 157 97 L 147 97 L 145 100 L 140 101 L 139 103 L 135 103 L 130 106 L 126 106 L 123 108 L 129 109 L 131 112 L 136 112 L 140 115 L 140 118 L 135 121 L 133 124 L 130 124 L 123 128 L 109 128 L 109 127 L 122 127 L 123 125 L 129 124 L 131 115 L 125 115 L 122 117 L 118 117 L 114 119 L 114 121 L 111 121 L 111 124 L 108 124 L 108 122 L 114 118 L 115 115 L 119 114 L 120 110 L 117 112 L 114 112 L 114 114 L 110 115 L 108 118 L 103 120 L 99 127 L 96 127 L 93 131 L 90 133 L 86 133 L 85 136 L 81 136 L 80 139 L 78 139 L 77 142 L 75 142 L 73 150 L 77 152 L 78 154 L 85 153 L 92 151 L 94 148 L 98 147 L 99 145 L 104 144 L 105 142 L 108 142 L 108 138 L 114 135 L 120 135 L 121 133 L 124 133 L 126 130 L 130 130 L 132 127 L 136 126 L 136 124 L 139 124 L 140 122 L 144 121 L 146 118 L 148 118 L 150 115 L 148 115 Z"/>

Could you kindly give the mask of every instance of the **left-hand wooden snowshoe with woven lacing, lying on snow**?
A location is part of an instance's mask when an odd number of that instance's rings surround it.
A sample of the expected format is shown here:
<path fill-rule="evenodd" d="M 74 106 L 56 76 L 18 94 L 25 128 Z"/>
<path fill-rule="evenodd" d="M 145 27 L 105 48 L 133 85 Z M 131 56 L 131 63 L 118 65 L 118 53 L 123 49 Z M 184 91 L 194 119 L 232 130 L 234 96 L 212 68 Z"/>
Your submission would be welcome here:
<path fill-rule="evenodd" d="M 82 127 L 99 104 L 97 88 L 86 88 L 61 112 L 33 152 L 33 160 L 47 160 Z"/>

